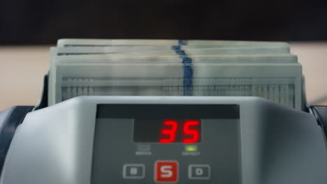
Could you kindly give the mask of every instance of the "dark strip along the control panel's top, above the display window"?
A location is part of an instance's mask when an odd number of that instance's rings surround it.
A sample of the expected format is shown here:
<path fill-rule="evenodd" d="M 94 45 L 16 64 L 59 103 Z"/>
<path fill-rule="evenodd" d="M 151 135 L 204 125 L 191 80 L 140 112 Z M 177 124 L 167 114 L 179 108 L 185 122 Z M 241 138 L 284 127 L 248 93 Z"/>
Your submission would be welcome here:
<path fill-rule="evenodd" d="M 101 104 L 96 118 L 240 118 L 238 105 Z"/>

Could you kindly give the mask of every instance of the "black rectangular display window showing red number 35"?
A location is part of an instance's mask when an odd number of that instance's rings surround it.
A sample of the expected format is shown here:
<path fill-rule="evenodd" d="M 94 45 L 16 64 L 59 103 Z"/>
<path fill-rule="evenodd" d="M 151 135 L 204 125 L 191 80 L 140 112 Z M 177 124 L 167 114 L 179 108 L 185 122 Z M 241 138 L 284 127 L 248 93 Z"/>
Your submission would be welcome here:
<path fill-rule="evenodd" d="M 181 118 L 136 118 L 133 141 L 169 144 L 201 142 L 201 120 Z"/>

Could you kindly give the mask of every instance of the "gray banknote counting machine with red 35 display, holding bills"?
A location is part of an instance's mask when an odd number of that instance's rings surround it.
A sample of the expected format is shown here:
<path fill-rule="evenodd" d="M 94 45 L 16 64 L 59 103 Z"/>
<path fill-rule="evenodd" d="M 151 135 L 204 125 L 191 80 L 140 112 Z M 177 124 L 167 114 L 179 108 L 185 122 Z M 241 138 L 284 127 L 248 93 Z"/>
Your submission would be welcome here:
<path fill-rule="evenodd" d="M 0 112 L 1 184 L 327 183 L 327 107 L 307 107 L 296 82 L 277 91 L 292 102 L 263 93 L 189 95 L 189 86 L 188 95 L 66 99 L 67 84 L 52 71 L 38 106 Z M 266 85 L 267 93 L 277 85 L 265 82 L 247 85 Z M 56 90 L 62 96 L 52 104 Z"/>

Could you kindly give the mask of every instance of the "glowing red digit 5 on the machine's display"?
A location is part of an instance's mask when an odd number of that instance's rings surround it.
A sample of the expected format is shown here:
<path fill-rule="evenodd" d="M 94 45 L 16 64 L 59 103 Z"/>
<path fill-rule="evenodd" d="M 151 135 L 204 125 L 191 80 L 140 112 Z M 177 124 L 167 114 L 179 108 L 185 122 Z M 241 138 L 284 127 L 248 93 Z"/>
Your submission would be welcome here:
<path fill-rule="evenodd" d="M 199 132 L 198 125 L 200 125 L 200 121 L 198 120 L 187 120 L 183 125 L 184 135 L 189 135 L 190 138 L 182 139 L 183 143 L 196 143 L 198 142 Z"/>

